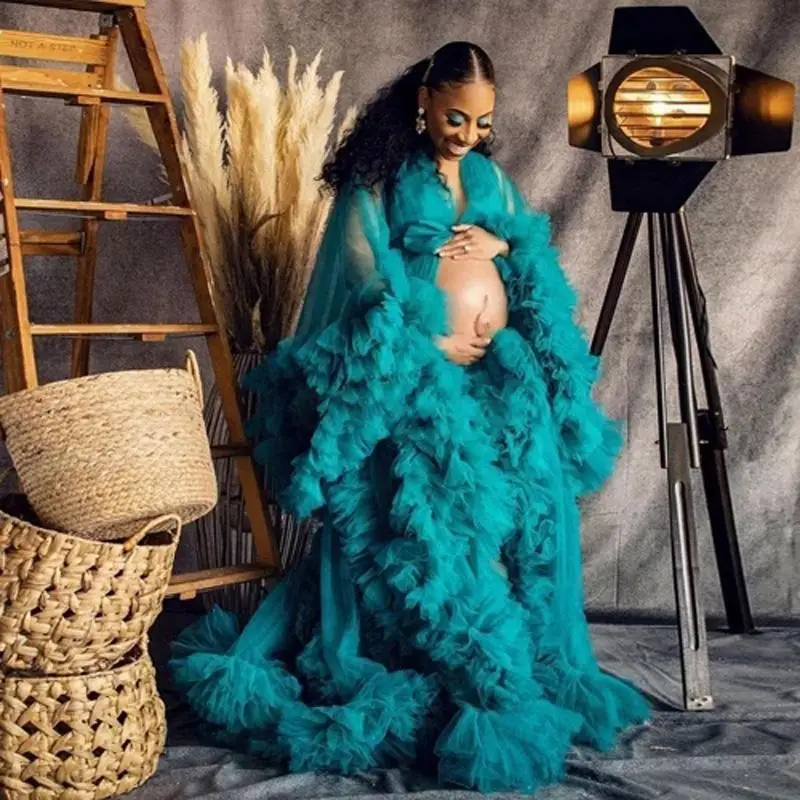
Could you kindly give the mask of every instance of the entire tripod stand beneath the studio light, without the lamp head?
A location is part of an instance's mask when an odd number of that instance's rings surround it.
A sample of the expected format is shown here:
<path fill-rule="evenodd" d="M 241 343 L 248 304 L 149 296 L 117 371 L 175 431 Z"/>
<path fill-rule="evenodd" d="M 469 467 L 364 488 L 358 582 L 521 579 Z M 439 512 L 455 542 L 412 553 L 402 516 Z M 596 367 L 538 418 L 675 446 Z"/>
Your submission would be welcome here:
<path fill-rule="evenodd" d="M 591 350 L 600 355 L 617 307 L 631 255 L 645 212 L 628 214 L 614 269 L 606 289 Z M 650 295 L 653 313 L 656 391 L 658 403 L 661 468 L 667 470 L 670 536 L 678 612 L 683 701 L 688 710 L 713 707 L 708 663 L 706 621 L 699 594 L 700 564 L 692 504 L 690 468 L 700 467 L 711 523 L 711 534 L 722 596 L 731 633 L 752 633 L 741 556 L 731 505 L 725 463 L 726 427 L 711 354 L 705 298 L 700 288 L 686 214 L 647 212 L 647 244 L 650 263 Z M 680 422 L 668 420 L 661 274 L 678 378 Z M 697 407 L 689 311 L 700 359 L 707 408 Z"/>

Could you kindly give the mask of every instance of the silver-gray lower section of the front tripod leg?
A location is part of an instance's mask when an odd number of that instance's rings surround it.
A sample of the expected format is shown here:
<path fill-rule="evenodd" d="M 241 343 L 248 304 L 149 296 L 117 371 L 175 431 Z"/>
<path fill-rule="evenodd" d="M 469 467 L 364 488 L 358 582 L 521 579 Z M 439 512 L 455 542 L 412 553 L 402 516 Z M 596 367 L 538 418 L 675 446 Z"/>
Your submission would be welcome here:
<path fill-rule="evenodd" d="M 683 706 L 687 711 L 714 707 L 703 602 L 698 591 L 700 562 L 692 507 L 691 473 L 686 425 L 668 425 L 670 537 L 675 604 L 678 609 Z"/>

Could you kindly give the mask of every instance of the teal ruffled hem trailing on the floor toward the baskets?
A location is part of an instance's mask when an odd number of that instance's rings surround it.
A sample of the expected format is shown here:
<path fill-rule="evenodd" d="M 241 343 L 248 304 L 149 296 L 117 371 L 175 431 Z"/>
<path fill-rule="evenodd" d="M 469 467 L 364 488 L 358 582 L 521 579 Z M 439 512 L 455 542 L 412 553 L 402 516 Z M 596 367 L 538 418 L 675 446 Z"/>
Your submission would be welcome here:
<path fill-rule="evenodd" d="M 349 696 L 311 705 L 283 662 L 237 654 L 235 631 L 233 616 L 215 609 L 175 640 L 170 662 L 176 687 L 227 741 L 293 772 L 352 773 L 414 761 L 439 691 L 433 678 L 356 659 L 354 669 L 369 669 Z"/>

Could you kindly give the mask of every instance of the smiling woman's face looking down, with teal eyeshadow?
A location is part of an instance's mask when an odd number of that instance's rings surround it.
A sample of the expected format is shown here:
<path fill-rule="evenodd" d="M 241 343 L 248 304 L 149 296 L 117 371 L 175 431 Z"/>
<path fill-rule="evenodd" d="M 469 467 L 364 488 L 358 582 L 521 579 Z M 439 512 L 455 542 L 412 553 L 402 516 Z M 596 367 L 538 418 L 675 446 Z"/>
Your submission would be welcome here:
<path fill-rule="evenodd" d="M 425 109 L 436 154 L 447 161 L 458 161 L 489 136 L 494 101 L 494 86 L 485 81 L 421 88 L 419 104 Z"/>

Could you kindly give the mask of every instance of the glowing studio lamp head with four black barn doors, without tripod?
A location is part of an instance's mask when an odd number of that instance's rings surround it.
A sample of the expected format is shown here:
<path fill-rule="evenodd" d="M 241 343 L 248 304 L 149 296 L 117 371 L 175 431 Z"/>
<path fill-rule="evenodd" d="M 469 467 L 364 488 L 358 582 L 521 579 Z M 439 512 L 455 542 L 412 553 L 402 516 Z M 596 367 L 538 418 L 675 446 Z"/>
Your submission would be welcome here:
<path fill-rule="evenodd" d="M 688 8 L 619 8 L 609 54 L 569 81 L 569 143 L 609 159 L 614 211 L 677 211 L 716 162 L 788 150 L 794 97 L 723 55 Z"/>

